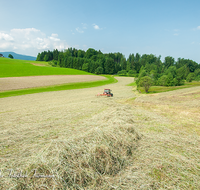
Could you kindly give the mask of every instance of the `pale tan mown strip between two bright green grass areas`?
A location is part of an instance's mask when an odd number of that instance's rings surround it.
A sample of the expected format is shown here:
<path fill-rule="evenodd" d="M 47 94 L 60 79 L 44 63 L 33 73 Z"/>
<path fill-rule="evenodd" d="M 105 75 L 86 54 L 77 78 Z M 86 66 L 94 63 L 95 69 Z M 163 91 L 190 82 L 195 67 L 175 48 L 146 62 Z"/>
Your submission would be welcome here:
<path fill-rule="evenodd" d="M 74 82 L 89 82 L 104 80 L 105 77 L 96 75 L 50 75 L 29 77 L 0 78 L 0 91 L 52 86 Z"/>

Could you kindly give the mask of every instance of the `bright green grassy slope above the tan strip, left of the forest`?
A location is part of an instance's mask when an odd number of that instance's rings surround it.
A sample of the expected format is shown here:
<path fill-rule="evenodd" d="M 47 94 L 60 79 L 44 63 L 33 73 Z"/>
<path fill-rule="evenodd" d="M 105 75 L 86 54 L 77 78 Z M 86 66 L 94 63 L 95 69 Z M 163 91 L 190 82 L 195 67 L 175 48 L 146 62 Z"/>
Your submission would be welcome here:
<path fill-rule="evenodd" d="M 31 63 L 46 66 L 45 62 L 0 58 L 0 77 L 41 75 L 92 75 L 91 73 L 87 73 L 76 69 L 42 67 L 32 65 Z"/>

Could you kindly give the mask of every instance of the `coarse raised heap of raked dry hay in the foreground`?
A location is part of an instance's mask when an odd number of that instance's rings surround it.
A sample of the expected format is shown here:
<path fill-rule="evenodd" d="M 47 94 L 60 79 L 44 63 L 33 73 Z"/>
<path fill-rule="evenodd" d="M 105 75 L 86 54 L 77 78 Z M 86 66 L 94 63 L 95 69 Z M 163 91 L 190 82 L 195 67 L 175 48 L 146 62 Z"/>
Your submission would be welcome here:
<path fill-rule="evenodd" d="M 52 170 L 48 164 L 32 164 L 26 169 L 29 178 L 16 179 L 17 189 L 109 188 L 109 178 L 134 161 L 139 139 L 134 126 L 125 126 L 107 131 L 97 129 L 73 141 L 64 141 L 57 166 Z M 53 178 L 36 177 L 39 174 Z"/>

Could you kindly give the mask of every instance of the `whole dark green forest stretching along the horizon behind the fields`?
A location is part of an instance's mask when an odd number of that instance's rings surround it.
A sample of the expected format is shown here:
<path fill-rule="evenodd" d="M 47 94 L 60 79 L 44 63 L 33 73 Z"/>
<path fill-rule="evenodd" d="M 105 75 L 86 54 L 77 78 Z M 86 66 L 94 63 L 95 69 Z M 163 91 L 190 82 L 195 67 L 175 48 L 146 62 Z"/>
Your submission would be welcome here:
<path fill-rule="evenodd" d="M 38 53 L 36 61 L 46 61 L 52 66 L 73 68 L 94 74 L 117 74 L 136 77 L 136 83 L 146 77 L 154 86 L 180 86 L 184 81 L 200 81 L 200 64 L 190 59 L 171 56 L 161 61 L 161 56 L 139 53 L 130 54 L 128 59 L 122 53 L 102 53 L 89 48 L 87 51 L 68 48 L 64 51 Z"/>

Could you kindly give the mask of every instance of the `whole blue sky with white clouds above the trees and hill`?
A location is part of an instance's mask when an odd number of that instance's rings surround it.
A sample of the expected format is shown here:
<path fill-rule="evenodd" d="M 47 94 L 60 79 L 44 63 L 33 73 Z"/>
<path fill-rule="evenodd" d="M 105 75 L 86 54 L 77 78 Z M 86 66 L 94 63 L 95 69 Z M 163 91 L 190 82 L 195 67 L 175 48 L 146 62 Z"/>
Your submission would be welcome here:
<path fill-rule="evenodd" d="M 68 47 L 200 63 L 199 0 L 0 0 L 0 51 Z"/>

